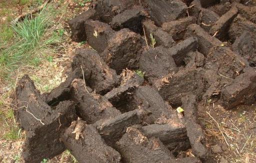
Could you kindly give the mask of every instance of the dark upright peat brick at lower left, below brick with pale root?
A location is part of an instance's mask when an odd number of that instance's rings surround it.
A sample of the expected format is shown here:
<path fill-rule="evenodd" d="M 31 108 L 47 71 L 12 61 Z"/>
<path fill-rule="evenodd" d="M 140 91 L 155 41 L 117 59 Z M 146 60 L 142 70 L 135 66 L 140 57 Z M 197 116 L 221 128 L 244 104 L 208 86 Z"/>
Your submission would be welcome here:
<path fill-rule="evenodd" d="M 42 121 L 44 125 L 40 124 L 28 130 L 22 152 L 25 162 L 39 163 L 43 158 L 54 157 L 65 150 L 59 138 L 64 127 L 68 127 L 75 119 L 74 106 L 75 103 L 70 100 L 59 102 L 51 115 L 46 116 L 47 120 Z M 34 112 L 33 114 L 37 115 Z"/>

